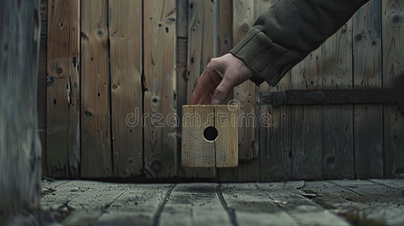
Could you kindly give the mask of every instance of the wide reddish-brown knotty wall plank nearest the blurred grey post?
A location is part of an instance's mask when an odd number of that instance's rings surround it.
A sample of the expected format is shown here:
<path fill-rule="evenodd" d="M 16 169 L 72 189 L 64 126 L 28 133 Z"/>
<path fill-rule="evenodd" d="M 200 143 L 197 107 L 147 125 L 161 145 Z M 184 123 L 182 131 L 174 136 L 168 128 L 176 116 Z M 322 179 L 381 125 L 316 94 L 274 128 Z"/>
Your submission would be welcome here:
<path fill-rule="evenodd" d="M 51 177 L 78 177 L 79 1 L 48 1 L 46 165 Z"/>

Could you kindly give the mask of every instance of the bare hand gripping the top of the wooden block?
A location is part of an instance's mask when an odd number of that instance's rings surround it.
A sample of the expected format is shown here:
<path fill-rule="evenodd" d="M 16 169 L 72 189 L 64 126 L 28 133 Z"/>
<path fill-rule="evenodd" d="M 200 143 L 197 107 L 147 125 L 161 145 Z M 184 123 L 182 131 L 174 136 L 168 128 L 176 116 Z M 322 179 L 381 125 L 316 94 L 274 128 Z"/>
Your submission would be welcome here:
<path fill-rule="evenodd" d="M 221 104 L 233 87 L 253 76 L 254 72 L 230 53 L 213 58 L 196 82 L 191 104 Z"/>

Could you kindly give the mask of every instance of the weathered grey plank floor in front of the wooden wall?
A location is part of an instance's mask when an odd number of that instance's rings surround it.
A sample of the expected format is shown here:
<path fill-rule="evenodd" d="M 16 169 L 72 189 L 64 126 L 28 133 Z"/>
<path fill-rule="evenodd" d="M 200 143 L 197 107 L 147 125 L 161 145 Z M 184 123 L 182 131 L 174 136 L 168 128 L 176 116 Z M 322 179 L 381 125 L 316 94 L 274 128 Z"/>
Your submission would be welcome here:
<path fill-rule="evenodd" d="M 62 225 L 404 225 L 404 179 L 116 184 L 43 181 Z"/>

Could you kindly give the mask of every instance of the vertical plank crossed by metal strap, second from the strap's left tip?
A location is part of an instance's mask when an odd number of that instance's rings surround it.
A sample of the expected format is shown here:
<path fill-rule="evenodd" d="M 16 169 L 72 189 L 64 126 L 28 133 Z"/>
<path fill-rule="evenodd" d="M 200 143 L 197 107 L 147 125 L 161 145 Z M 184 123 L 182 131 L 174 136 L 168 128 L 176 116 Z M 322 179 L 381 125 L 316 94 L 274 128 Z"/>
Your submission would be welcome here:
<path fill-rule="evenodd" d="M 321 89 L 322 60 L 322 51 L 318 48 L 294 66 L 290 71 L 290 88 Z M 322 178 L 323 123 L 321 116 L 321 106 L 291 107 L 289 155 L 292 180 Z"/>

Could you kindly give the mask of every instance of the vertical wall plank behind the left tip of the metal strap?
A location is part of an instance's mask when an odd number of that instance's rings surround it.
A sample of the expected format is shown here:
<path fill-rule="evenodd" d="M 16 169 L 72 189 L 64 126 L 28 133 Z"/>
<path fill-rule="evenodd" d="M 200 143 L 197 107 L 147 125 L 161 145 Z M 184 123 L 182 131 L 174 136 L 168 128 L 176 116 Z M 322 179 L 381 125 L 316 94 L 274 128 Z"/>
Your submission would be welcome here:
<path fill-rule="evenodd" d="M 255 18 L 274 0 L 255 0 Z M 281 92 L 290 89 L 290 73 L 276 87 L 263 83 L 260 92 Z M 260 181 L 290 179 L 290 106 L 260 106 Z"/>

